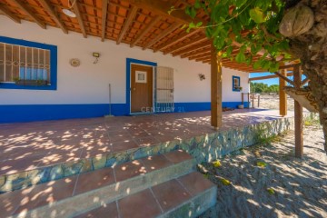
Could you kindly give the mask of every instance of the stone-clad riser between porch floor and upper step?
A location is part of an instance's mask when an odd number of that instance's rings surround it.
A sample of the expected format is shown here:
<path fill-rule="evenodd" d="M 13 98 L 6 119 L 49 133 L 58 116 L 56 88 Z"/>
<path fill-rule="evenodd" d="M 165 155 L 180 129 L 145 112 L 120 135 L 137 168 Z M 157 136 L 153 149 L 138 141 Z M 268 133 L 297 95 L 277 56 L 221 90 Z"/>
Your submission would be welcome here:
<path fill-rule="evenodd" d="M 179 141 L 171 141 L 152 146 L 129 149 L 114 154 L 104 154 L 79 161 L 70 161 L 41 167 L 35 170 L 0 175 L 0 194 L 26 188 L 39 183 L 47 183 L 78 173 L 92 172 L 104 167 L 137 160 L 146 156 L 165 154 L 178 148 Z"/>

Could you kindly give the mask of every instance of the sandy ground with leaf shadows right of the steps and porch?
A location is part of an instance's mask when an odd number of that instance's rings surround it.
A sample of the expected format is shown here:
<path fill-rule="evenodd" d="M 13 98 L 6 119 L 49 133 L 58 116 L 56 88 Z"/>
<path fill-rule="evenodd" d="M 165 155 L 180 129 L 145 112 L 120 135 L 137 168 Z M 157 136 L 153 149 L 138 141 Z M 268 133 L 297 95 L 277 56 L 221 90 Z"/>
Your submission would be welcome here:
<path fill-rule="evenodd" d="M 302 160 L 294 157 L 294 134 L 288 132 L 225 156 L 221 166 L 200 164 L 218 187 L 216 205 L 200 217 L 327 217 L 321 126 L 305 126 L 303 137 Z"/>

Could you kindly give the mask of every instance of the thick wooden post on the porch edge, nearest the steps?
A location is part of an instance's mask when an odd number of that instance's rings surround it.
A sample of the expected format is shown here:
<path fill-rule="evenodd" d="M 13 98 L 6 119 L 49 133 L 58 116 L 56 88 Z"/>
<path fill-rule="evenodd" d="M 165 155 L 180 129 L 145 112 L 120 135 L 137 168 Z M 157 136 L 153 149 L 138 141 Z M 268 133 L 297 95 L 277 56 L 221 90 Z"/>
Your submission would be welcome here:
<path fill-rule="evenodd" d="M 211 58 L 211 124 L 217 129 L 223 125 L 222 54 L 213 43 Z"/>

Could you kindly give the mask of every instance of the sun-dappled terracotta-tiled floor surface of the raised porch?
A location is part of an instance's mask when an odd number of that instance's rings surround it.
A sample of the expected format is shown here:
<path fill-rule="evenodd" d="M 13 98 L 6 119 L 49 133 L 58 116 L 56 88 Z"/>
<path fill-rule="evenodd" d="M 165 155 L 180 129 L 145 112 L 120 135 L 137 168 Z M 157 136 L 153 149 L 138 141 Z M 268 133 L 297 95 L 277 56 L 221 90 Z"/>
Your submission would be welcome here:
<path fill-rule="evenodd" d="M 280 118 L 263 109 L 224 112 L 218 131 Z M 210 111 L 0 124 L 0 175 L 214 132 Z"/>

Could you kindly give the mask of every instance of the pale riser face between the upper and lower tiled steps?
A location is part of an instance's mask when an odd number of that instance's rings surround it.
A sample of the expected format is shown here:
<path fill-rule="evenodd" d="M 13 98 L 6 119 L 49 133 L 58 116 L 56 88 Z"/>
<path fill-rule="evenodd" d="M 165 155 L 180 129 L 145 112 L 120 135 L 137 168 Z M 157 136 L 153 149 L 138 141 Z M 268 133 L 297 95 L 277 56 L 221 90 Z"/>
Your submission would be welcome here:
<path fill-rule="evenodd" d="M 160 170 L 104 186 L 88 193 L 82 193 L 51 205 L 36 208 L 28 213 L 18 213 L 13 217 L 72 217 L 75 214 L 97 208 L 102 203 L 114 202 L 129 194 L 143 191 L 155 184 L 164 183 L 183 174 L 193 172 L 193 170 L 194 160 L 186 160 Z"/>

